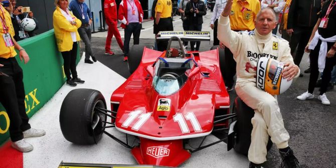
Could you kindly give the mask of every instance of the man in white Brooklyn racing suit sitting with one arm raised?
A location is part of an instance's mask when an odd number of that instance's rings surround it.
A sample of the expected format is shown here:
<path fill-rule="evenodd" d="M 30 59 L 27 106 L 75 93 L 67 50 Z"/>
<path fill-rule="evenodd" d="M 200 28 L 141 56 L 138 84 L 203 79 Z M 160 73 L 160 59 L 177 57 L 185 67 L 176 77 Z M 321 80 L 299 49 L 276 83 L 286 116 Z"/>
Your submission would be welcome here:
<path fill-rule="evenodd" d="M 275 96 L 256 87 L 256 66 L 260 57 L 270 57 L 285 63 L 283 80 L 298 77 L 299 68 L 290 55 L 288 42 L 275 35 L 276 27 L 274 11 L 262 9 L 254 21 L 255 30 L 251 32 L 234 32 L 230 29 L 229 15 L 232 2 L 228 0 L 218 21 L 218 39 L 233 53 L 237 62 L 237 95 L 252 109 L 255 114 L 251 120 L 253 125 L 251 144 L 248 151 L 249 167 L 261 167 L 266 161 L 266 144 L 268 137 L 279 149 L 285 167 L 300 167 L 292 149 L 288 146 L 289 134 L 284 127 L 278 102 Z"/>

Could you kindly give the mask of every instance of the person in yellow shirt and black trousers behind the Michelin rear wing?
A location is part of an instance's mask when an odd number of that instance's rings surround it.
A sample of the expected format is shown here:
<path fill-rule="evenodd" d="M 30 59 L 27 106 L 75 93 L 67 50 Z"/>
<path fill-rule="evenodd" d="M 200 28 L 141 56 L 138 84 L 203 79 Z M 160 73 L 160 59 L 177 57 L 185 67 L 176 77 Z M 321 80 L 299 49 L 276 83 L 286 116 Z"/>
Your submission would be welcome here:
<path fill-rule="evenodd" d="M 155 24 L 157 34 L 160 31 L 174 31 L 172 19 L 172 1 L 158 0 L 155 7 Z M 167 49 L 167 41 L 157 41 L 157 50 L 164 51 Z"/>

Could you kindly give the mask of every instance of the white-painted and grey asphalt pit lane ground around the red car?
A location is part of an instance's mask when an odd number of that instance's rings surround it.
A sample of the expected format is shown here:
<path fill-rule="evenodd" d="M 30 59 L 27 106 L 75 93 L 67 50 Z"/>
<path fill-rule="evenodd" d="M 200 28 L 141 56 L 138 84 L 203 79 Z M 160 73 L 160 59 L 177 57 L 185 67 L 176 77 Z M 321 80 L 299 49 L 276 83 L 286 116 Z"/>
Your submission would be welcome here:
<path fill-rule="evenodd" d="M 204 31 L 210 29 L 208 25 L 211 14 L 208 13 L 205 16 Z M 174 29 L 182 30 L 182 22 L 178 18 L 175 21 Z M 141 44 L 153 45 L 151 25 L 152 22 L 143 23 L 145 29 L 141 32 Z M 123 37 L 123 32 L 121 32 L 121 36 Z M 86 82 L 75 88 L 97 89 L 103 93 L 108 102 L 113 90 L 130 74 L 127 70 L 127 63 L 122 62 L 122 53 L 116 45 L 115 39 L 112 40 L 112 51 L 116 55 L 104 55 L 105 37 L 106 32 L 93 34 L 92 45 L 98 62 L 84 64 L 82 58 L 77 69 L 79 77 Z M 202 42 L 200 50 L 206 51 L 210 47 L 209 42 Z M 305 55 L 301 63 L 301 71 L 307 66 L 307 55 Z M 322 105 L 317 98 L 307 101 L 296 100 L 296 96 L 306 90 L 308 79 L 309 76 L 305 74 L 304 77 L 297 79 L 287 92 L 278 97 L 285 127 L 291 136 L 289 144 L 300 161 L 301 167 L 336 167 L 334 160 L 336 158 L 335 91 L 327 92 L 331 102 L 330 106 Z M 59 110 L 66 94 L 75 88 L 64 85 L 49 103 L 31 118 L 32 126 L 46 129 L 47 134 L 43 137 L 27 139 L 34 145 L 34 150 L 23 154 L 23 166 L 56 167 L 62 160 L 64 162 L 136 164 L 129 149 L 108 136 L 104 135 L 97 145 L 76 145 L 63 137 L 59 126 Z M 318 94 L 318 89 L 315 90 L 315 94 Z M 235 92 L 230 92 L 230 96 L 233 101 L 236 96 Z M 107 131 L 121 139 L 125 138 L 124 134 L 114 131 L 113 128 L 108 128 Z M 213 135 L 207 138 L 207 142 L 215 140 L 218 139 Z M 264 167 L 280 167 L 281 158 L 275 146 L 268 153 L 267 160 Z M 226 144 L 221 142 L 194 153 L 181 166 L 247 167 L 248 159 L 233 150 L 227 152 Z"/>

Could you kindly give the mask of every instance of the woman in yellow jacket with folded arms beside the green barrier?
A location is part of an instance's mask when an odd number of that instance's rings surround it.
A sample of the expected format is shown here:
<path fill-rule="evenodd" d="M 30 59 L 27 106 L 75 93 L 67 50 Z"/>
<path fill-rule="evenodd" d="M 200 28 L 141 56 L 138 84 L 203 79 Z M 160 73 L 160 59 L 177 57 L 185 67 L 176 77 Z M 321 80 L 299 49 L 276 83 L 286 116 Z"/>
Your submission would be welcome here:
<path fill-rule="evenodd" d="M 58 51 L 61 52 L 64 60 L 67 85 L 77 86 L 77 83 L 85 82 L 78 78 L 76 70 L 77 42 L 80 41 L 77 29 L 81 27 L 82 22 L 70 13 L 68 5 L 68 0 L 55 0 L 53 25 Z"/>

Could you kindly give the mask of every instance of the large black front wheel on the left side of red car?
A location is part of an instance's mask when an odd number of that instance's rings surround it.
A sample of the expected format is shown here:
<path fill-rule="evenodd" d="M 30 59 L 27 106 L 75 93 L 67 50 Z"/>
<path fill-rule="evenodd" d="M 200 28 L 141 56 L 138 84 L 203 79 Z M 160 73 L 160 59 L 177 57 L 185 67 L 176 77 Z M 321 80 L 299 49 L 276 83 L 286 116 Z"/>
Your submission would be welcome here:
<path fill-rule="evenodd" d="M 97 143 L 106 125 L 106 115 L 96 107 L 106 109 L 104 96 L 93 89 L 74 89 L 63 100 L 60 125 L 63 136 L 76 144 Z"/>

